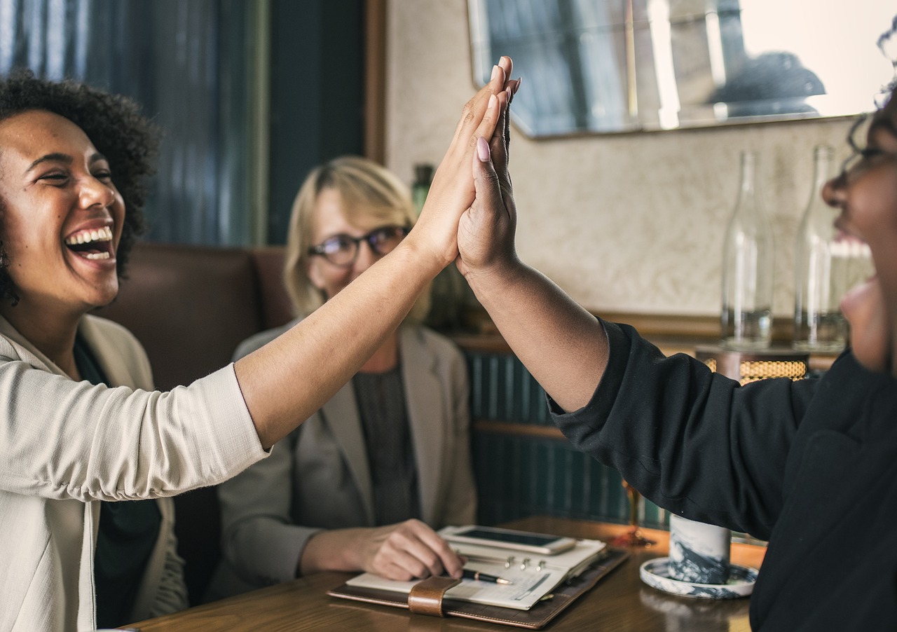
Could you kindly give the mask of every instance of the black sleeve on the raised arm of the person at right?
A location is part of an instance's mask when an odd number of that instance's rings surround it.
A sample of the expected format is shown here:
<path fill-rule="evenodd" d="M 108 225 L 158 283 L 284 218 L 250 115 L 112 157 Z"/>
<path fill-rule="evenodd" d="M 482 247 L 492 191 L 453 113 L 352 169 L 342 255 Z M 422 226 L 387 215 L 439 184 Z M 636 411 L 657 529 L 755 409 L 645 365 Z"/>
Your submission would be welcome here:
<path fill-rule="evenodd" d="M 818 380 L 741 386 L 685 354 L 665 357 L 628 325 L 604 326 L 605 374 L 579 411 L 550 403 L 557 426 L 658 506 L 767 539 Z"/>

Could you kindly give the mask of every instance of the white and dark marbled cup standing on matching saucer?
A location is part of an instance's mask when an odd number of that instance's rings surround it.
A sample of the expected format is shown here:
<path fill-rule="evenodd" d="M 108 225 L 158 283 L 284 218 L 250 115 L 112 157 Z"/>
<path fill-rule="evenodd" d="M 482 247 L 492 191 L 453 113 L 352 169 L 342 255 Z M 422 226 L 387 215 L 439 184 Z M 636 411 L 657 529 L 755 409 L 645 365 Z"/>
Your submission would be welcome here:
<path fill-rule="evenodd" d="M 715 524 L 670 515 L 669 574 L 690 584 L 725 584 L 732 532 Z"/>

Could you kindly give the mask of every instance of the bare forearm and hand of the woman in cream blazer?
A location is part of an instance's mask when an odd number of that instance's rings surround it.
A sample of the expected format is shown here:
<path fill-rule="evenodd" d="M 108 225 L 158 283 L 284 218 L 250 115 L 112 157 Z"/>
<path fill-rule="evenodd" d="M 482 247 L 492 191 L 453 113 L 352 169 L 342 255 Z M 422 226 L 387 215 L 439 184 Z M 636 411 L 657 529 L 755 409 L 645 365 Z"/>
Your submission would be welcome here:
<path fill-rule="evenodd" d="M 510 70 L 509 57 L 502 57 L 492 80 L 467 102 L 420 220 L 402 244 L 299 325 L 235 363 L 262 446 L 272 446 L 327 402 L 457 257 L 458 218 L 474 198 L 475 139 L 492 135 L 507 102 Z"/>

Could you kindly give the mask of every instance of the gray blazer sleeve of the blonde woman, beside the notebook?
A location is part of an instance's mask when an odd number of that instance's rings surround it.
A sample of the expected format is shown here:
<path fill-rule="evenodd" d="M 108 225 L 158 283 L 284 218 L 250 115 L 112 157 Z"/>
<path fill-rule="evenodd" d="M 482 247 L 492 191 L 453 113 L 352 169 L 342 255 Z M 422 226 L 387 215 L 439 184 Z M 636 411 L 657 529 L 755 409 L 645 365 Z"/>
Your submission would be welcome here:
<path fill-rule="evenodd" d="M 320 531 L 292 523 L 295 440 L 294 431 L 275 444 L 264 461 L 218 486 L 222 554 L 249 584 L 278 584 L 295 578 L 305 545 Z"/>

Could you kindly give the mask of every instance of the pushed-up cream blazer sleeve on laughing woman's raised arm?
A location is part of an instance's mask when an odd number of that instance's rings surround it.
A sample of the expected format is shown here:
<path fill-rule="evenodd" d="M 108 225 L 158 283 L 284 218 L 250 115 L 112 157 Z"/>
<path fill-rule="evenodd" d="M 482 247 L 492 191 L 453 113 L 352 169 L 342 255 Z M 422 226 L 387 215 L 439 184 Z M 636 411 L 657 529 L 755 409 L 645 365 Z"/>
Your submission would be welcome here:
<path fill-rule="evenodd" d="M 109 321 L 105 342 L 133 347 Z M 263 458 L 233 365 L 160 393 L 74 382 L 0 336 L 0 489 L 129 500 L 218 483 Z"/>

